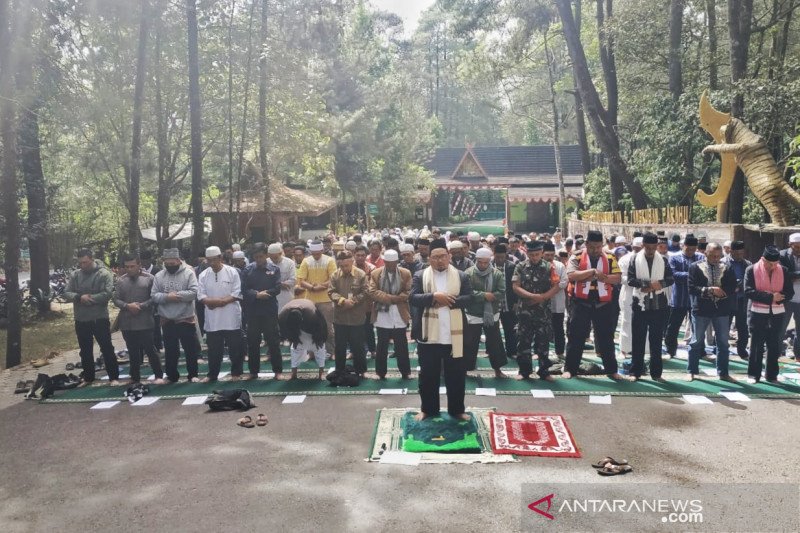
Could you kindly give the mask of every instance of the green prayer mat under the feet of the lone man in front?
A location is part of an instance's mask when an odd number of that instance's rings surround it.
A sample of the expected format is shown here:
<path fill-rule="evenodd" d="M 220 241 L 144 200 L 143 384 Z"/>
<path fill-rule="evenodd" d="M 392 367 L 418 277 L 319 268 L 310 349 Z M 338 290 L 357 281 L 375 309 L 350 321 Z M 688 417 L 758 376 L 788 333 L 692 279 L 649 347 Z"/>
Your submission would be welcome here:
<path fill-rule="evenodd" d="M 472 413 L 469 420 L 453 418 L 447 413 L 416 420 L 416 413 L 403 417 L 403 451 L 424 453 L 480 453 L 478 428 Z"/>

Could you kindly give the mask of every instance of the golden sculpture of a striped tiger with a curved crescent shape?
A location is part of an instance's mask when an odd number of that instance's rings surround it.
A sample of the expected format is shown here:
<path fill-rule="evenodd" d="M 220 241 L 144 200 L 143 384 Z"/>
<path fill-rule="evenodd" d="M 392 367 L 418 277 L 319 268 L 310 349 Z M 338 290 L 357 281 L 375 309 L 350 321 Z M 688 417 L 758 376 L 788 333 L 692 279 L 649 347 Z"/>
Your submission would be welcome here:
<path fill-rule="evenodd" d="M 738 166 L 747 178 L 750 190 L 769 213 L 772 223 L 791 226 L 791 206 L 800 206 L 800 193 L 783 179 L 783 173 L 764 140 L 738 118 L 714 109 L 706 93 L 700 98 L 700 125 L 717 143 L 703 148 L 703 153 L 719 154 L 722 158 L 717 190 L 710 195 L 698 191 L 700 203 L 719 208 L 720 203 L 727 201 Z"/>

